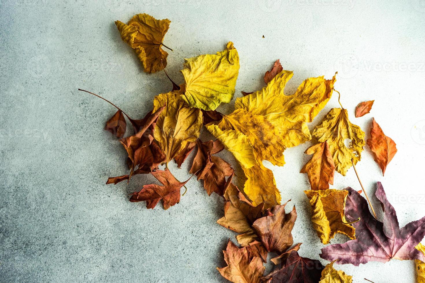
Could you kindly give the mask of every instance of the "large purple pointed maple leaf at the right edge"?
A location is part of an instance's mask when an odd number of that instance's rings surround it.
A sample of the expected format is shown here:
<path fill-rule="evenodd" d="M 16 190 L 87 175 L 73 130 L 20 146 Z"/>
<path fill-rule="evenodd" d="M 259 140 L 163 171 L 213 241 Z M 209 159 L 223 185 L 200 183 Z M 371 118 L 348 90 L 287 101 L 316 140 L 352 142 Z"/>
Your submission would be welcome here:
<path fill-rule="evenodd" d="M 368 203 L 352 188 L 346 201 L 347 221 L 355 221 L 356 239 L 344 244 L 333 244 L 322 249 L 321 258 L 337 260 L 337 264 L 351 263 L 358 266 L 369 261 L 387 262 L 398 260 L 425 260 L 422 252 L 415 249 L 425 235 L 425 216 L 399 228 L 396 211 L 388 202 L 384 188 L 377 183 L 375 193 L 384 212 L 383 222 L 375 219 L 369 212 Z"/>

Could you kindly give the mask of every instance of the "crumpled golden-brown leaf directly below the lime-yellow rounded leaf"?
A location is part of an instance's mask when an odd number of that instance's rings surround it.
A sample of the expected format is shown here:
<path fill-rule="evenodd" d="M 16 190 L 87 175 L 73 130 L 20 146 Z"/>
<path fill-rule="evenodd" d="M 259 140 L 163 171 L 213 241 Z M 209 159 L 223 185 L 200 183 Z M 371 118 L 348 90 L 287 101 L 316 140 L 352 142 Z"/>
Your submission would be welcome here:
<path fill-rule="evenodd" d="M 166 107 L 159 115 L 154 129 L 155 140 L 164 151 L 166 163 L 201 134 L 202 112 L 187 106 L 180 97 L 182 91 L 183 88 L 162 93 L 153 100 L 154 111 L 162 106 Z"/>

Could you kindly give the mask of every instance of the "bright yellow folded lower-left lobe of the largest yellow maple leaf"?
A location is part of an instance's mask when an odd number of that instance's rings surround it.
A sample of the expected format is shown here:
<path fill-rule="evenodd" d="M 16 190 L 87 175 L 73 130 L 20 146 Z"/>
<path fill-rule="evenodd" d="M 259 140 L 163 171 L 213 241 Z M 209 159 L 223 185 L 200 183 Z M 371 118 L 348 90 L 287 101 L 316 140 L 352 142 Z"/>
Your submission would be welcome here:
<path fill-rule="evenodd" d="M 251 168 L 258 164 L 255 159 L 254 149 L 246 135 L 234 130 L 223 131 L 215 124 L 208 124 L 205 127 L 221 141 L 225 149 L 233 154 L 242 168 Z"/>

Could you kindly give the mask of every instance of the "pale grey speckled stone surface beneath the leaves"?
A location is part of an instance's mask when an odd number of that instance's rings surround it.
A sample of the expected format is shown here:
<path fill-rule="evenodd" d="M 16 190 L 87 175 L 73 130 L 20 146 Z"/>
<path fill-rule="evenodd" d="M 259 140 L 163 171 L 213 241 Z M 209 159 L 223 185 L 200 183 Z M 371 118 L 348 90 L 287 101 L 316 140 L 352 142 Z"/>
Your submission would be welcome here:
<path fill-rule="evenodd" d="M 178 83 L 183 58 L 222 50 L 229 40 L 241 60 L 236 96 L 262 87 L 262 75 L 276 59 L 295 73 L 287 94 L 305 78 L 331 78 L 338 71 L 335 88 L 351 121 L 368 138 L 375 117 L 397 143 L 385 177 L 365 146 L 357 168 L 366 190 L 373 195 L 382 181 L 400 225 L 425 215 L 423 1 L 2 0 L 2 282 L 226 281 L 215 268 L 225 265 L 221 250 L 235 233 L 215 223 L 223 214 L 220 197 L 208 197 L 193 178 L 180 204 L 147 210 L 144 203 L 128 202 L 128 193 L 152 177 L 105 185 L 108 177 L 126 172 L 124 149 L 103 130 L 115 110 L 77 89 L 103 95 L 134 118 L 170 89 L 164 73 L 143 73 L 113 23 L 141 12 L 171 20 L 164 43 L 174 52 L 167 70 Z M 371 99 L 371 114 L 354 118 L 357 103 Z M 232 105 L 219 110 L 229 113 Z M 310 129 L 337 106 L 334 95 Z M 203 138 L 211 136 L 204 131 Z M 309 183 L 299 173 L 311 145 L 287 150 L 283 167 L 266 165 L 283 201 L 292 199 L 297 208 L 293 234 L 304 243 L 300 255 L 319 258 L 323 245 L 303 193 Z M 220 156 L 235 164 L 230 154 Z M 171 165 L 179 179 L 189 176 L 188 168 L 189 162 L 180 170 Z M 333 188 L 348 185 L 360 190 L 352 169 L 346 177 L 336 174 Z M 346 240 L 338 236 L 331 243 Z M 354 282 L 414 282 L 409 261 L 338 267 Z"/>

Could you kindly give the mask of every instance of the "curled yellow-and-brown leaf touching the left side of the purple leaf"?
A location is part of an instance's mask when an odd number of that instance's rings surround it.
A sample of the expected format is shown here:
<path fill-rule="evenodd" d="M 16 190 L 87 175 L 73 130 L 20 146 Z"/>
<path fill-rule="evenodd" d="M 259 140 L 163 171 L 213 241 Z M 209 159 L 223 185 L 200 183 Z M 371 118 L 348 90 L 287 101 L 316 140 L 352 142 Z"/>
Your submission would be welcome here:
<path fill-rule="evenodd" d="M 320 190 L 304 191 L 312 205 L 313 227 L 323 244 L 329 244 L 336 233 L 347 235 L 355 239 L 355 229 L 347 223 L 344 208 L 348 191 Z"/>

